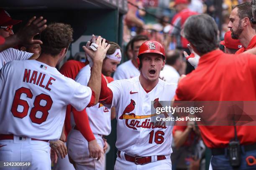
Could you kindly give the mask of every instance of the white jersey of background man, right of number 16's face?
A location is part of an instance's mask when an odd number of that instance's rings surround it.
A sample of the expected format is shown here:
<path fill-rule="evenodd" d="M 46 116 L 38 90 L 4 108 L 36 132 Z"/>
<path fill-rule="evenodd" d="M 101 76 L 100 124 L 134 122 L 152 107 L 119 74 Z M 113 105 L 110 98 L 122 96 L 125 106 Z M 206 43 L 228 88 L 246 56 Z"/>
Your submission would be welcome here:
<path fill-rule="evenodd" d="M 159 78 L 162 80 L 176 84 L 178 83 L 179 77 L 179 72 L 177 72 L 177 70 L 170 65 L 164 65 L 164 70 L 160 71 L 159 75 Z"/>

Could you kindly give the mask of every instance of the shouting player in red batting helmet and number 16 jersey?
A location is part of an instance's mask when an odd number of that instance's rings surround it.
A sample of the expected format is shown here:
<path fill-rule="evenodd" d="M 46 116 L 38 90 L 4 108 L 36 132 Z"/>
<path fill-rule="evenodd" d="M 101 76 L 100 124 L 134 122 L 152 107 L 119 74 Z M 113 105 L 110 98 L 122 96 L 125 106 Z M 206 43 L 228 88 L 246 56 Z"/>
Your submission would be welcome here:
<path fill-rule="evenodd" d="M 159 42 L 146 41 L 138 53 L 140 76 L 116 80 L 108 86 L 102 80 L 100 102 L 115 106 L 117 113 L 115 170 L 172 169 L 172 126 L 151 122 L 155 108 L 161 105 L 159 101 L 171 101 L 177 87 L 159 79 L 164 57 L 164 47 Z"/>

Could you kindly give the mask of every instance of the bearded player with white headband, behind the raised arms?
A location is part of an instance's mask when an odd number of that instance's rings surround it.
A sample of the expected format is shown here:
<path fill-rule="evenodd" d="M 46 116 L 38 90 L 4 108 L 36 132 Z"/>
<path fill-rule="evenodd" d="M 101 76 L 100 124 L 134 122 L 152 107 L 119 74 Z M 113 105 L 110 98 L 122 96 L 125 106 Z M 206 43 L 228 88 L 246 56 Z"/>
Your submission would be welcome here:
<path fill-rule="evenodd" d="M 120 46 L 115 42 L 110 42 L 110 45 L 102 64 L 102 77 L 105 78 L 107 82 L 110 79 L 106 76 L 110 76 L 111 73 L 116 70 L 116 66 L 122 59 Z M 79 71 L 75 80 L 82 85 L 87 85 L 90 74 L 90 66 L 86 65 Z M 111 111 L 98 103 L 93 107 L 86 108 L 86 112 L 89 117 L 92 133 L 103 150 L 104 140 L 102 137 L 108 136 L 111 132 Z M 105 170 L 105 154 L 102 153 L 98 161 L 94 158 L 89 158 L 88 142 L 78 130 L 74 119 L 72 119 L 71 122 L 74 129 L 69 134 L 67 145 L 69 156 L 75 162 L 75 168 L 77 170 Z"/>

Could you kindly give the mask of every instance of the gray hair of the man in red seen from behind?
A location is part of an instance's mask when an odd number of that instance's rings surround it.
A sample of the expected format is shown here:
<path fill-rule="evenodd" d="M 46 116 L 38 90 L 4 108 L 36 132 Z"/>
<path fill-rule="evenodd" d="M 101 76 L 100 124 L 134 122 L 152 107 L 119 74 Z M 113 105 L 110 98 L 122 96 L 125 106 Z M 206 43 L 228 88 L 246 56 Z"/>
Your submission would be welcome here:
<path fill-rule="evenodd" d="M 210 15 L 190 16 L 184 24 L 184 36 L 201 55 L 219 45 L 218 26 Z"/>

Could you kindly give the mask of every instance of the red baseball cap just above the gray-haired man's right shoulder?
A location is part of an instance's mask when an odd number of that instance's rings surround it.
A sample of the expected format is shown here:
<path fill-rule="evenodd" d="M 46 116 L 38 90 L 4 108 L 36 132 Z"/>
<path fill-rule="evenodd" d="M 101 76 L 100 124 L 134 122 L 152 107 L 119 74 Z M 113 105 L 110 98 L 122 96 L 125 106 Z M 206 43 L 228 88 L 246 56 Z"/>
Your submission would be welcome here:
<path fill-rule="evenodd" d="M 224 45 L 226 48 L 238 50 L 243 47 L 240 40 L 235 40 L 231 37 L 231 31 L 228 31 L 224 35 L 224 41 L 220 41 L 221 45 Z"/>

